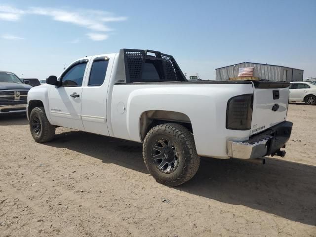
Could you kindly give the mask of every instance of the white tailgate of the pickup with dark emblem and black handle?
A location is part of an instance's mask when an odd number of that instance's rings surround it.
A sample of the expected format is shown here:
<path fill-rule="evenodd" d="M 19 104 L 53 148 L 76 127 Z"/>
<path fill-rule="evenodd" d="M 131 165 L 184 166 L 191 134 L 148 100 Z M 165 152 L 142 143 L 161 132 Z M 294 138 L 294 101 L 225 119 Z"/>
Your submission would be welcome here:
<path fill-rule="evenodd" d="M 288 82 L 253 81 L 253 112 L 250 135 L 286 120 Z"/>

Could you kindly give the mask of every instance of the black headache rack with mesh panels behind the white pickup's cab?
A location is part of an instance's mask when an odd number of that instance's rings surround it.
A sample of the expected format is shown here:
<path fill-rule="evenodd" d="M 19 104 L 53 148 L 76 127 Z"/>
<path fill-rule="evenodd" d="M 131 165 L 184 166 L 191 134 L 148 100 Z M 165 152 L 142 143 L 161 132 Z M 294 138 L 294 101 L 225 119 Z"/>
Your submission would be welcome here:
<path fill-rule="evenodd" d="M 115 83 L 187 81 L 173 56 L 154 50 L 120 49 Z"/>

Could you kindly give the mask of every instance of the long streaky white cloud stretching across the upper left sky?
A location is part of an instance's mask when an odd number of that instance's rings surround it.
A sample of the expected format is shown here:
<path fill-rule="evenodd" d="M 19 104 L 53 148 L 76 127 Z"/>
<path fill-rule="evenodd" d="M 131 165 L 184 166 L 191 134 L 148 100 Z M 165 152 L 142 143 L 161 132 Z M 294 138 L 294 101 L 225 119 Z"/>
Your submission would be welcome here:
<path fill-rule="evenodd" d="M 22 15 L 49 16 L 55 21 L 65 22 L 84 27 L 95 32 L 109 32 L 113 29 L 106 25 L 107 22 L 125 21 L 125 16 L 115 16 L 111 12 L 91 9 L 67 9 L 29 7 L 25 10 L 8 5 L 0 5 L 0 20 L 18 21 Z M 86 34 L 91 40 L 105 40 L 108 35 L 89 33 Z"/>

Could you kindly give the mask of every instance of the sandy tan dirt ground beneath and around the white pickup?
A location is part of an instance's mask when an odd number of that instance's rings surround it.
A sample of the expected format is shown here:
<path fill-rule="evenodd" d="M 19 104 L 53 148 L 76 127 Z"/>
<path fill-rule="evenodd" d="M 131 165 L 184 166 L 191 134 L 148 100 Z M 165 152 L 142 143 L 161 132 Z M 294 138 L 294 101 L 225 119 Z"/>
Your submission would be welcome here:
<path fill-rule="evenodd" d="M 67 128 L 38 144 L 25 116 L 1 116 L 0 237 L 315 237 L 316 106 L 291 104 L 288 120 L 285 158 L 203 158 L 169 188 L 141 144 Z"/>

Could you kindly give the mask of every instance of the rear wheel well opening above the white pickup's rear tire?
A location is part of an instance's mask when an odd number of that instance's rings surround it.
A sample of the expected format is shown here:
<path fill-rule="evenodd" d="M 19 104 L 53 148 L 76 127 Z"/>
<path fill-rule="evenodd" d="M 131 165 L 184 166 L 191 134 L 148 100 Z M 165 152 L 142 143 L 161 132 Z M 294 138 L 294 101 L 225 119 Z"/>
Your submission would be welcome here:
<path fill-rule="evenodd" d="M 187 115 L 174 111 L 149 110 L 145 111 L 139 120 L 139 132 L 141 140 L 144 141 L 146 134 L 153 127 L 170 121 L 183 125 L 193 133 L 191 120 Z"/>

